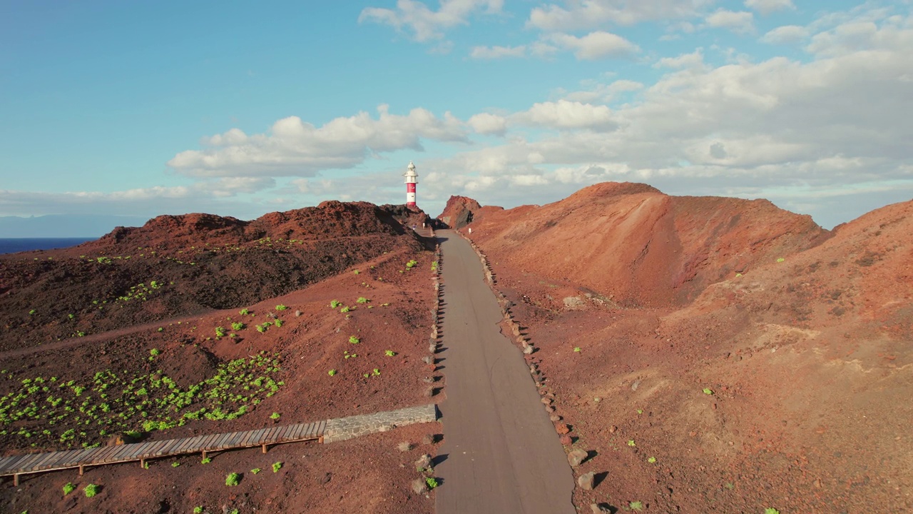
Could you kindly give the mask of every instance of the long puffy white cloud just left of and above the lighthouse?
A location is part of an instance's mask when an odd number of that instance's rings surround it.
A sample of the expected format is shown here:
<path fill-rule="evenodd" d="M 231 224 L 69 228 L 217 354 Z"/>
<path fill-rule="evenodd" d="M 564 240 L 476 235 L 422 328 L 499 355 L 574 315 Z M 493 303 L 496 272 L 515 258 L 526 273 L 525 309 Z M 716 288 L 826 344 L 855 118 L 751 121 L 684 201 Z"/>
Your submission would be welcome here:
<path fill-rule="evenodd" d="M 247 135 L 239 129 L 204 139 L 204 150 L 174 155 L 168 166 L 195 177 L 310 177 L 323 169 L 356 166 L 369 153 L 404 148 L 421 150 L 421 140 L 466 141 L 466 130 L 450 112 L 443 119 L 416 108 L 408 115 L 378 107 L 336 118 L 318 128 L 289 116 L 273 123 L 270 134 Z"/>

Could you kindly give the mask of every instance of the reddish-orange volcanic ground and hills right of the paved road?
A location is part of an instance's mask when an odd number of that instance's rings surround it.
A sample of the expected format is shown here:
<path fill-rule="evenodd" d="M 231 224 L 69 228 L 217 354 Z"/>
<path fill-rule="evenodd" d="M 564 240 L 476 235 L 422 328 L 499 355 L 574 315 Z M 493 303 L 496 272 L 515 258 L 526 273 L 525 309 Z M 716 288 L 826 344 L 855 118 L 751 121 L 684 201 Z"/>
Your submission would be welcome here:
<path fill-rule="evenodd" d="M 601 184 L 469 227 L 604 474 L 582 511 L 913 509 L 913 202 L 832 233 Z"/>

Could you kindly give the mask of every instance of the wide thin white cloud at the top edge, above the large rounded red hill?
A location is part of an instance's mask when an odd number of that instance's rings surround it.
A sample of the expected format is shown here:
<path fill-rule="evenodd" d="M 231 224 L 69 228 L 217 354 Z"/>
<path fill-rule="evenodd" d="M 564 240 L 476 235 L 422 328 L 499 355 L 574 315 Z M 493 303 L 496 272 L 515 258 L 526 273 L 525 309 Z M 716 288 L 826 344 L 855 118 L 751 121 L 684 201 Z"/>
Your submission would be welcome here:
<path fill-rule="evenodd" d="M 568 0 L 564 7 L 550 4 L 530 11 L 528 27 L 546 31 L 574 31 L 605 24 L 635 25 L 644 21 L 698 16 L 713 0 Z"/>

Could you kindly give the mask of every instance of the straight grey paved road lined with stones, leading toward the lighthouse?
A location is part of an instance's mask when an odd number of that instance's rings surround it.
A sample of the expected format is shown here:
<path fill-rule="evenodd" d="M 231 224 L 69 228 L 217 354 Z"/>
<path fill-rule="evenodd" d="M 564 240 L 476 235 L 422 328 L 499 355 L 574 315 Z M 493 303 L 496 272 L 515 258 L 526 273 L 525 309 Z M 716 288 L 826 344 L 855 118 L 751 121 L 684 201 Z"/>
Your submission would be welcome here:
<path fill-rule="evenodd" d="M 574 514 L 573 477 L 519 350 L 467 241 L 438 232 L 443 256 L 446 401 L 435 467 L 437 514 Z"/>

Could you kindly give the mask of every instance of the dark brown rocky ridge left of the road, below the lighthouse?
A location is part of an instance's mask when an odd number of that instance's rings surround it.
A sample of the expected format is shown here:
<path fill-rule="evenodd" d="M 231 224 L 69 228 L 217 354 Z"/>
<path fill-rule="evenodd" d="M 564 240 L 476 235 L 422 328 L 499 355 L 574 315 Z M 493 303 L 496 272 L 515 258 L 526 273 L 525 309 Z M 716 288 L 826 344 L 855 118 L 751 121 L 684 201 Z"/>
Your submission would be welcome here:
<path fill-rule="evenodd" d="M 3 255 L 0 348 L 249 305 L 400 247 L 424 246 L 390 210 L 328 201 L 252 221 L 159 216 L 70 249 Z"/>

